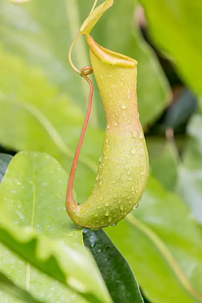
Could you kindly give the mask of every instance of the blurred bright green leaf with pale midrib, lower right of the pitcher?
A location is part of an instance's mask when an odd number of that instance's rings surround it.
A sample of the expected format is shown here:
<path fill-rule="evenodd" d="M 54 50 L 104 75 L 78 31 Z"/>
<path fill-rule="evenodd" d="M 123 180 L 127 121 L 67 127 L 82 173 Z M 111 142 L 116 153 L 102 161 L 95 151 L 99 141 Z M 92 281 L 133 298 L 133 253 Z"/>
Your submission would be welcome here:
<path fill-rule="evenodd" d="M 152 176 L 138 209 L 105 232 L 152 302 L 202 301 L 201 230 L 187 205 Z"/>

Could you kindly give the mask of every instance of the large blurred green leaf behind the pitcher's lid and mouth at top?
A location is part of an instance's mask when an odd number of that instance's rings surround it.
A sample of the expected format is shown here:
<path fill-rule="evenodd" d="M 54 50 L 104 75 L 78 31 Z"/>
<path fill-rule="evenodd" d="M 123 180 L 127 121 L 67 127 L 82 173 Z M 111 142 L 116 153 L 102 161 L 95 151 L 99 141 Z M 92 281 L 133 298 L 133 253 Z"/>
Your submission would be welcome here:
<path fill-rule="evenodd" d="M 0 40 L 6 50 L 22 56 L 29 64 L 42 67 L 51 83 L 61 92 L 68 93 L 83 110 L 88 86 L 71 70 L 67 52 L 92 4 L 93 0 L 34 0 L 21 5 L 0 1 Z M 132 25 L 134 8 L 133 0 L 114 1 L 94 27 L 92 35 L 103 47 L 138 60 L 139 110 L 141 122 L 146 124 L 166 106 L 168 85 L 154 53 Z M 89 64 L 84 38 L 79 39 L 73 53 L 78 68 Z M 104 126 L 96 86 L 95 97 L 92 121 L 96 124 L 99 119 Z"/>

